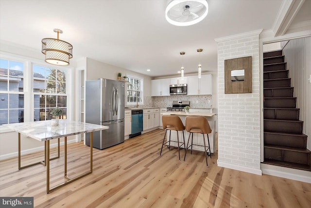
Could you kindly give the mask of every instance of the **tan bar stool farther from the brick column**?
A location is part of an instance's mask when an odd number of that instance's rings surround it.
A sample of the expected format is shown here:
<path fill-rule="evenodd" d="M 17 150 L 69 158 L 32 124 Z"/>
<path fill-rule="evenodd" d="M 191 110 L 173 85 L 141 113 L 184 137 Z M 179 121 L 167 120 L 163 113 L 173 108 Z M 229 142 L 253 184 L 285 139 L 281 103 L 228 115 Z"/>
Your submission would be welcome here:
<path fill-rule="evenodd" d="M 178 156 L 179 156 L 179 160 L 180 160 L 179 148 L 182 145 L 184 145 L 185 151 L 186 151 L 186 142 L 185 142 L 185 135 L 184 135 L 185 126 L 184 126 L 183 122 L 181 121 L 180 117 L 178 117 L 177 115 L 163 115 L 162 116 L 162 124 L 163 124 L 163 129 L 165 130 L 165 134 L 164 134 L 164 138 L 163 138 L 163 143 L 162 143 L 160 155 L 162 154 L 163 146 L 167 143 L 169 143 L 168 148 L 170 150 L 170 148 L 171 148 L 171 131 L 173 130 L 173 131 L 176 131 L 176 133 L 177 133 L 177 147 L 178 147 Z M 169 141 L 164 142 L 165 136 L 166 136 L 166 133 L 168 130 L 170 130 Z M 179 145 L 178 131 L 183 132 L 184 142 L 180 142 L 181 145 Z"/>

